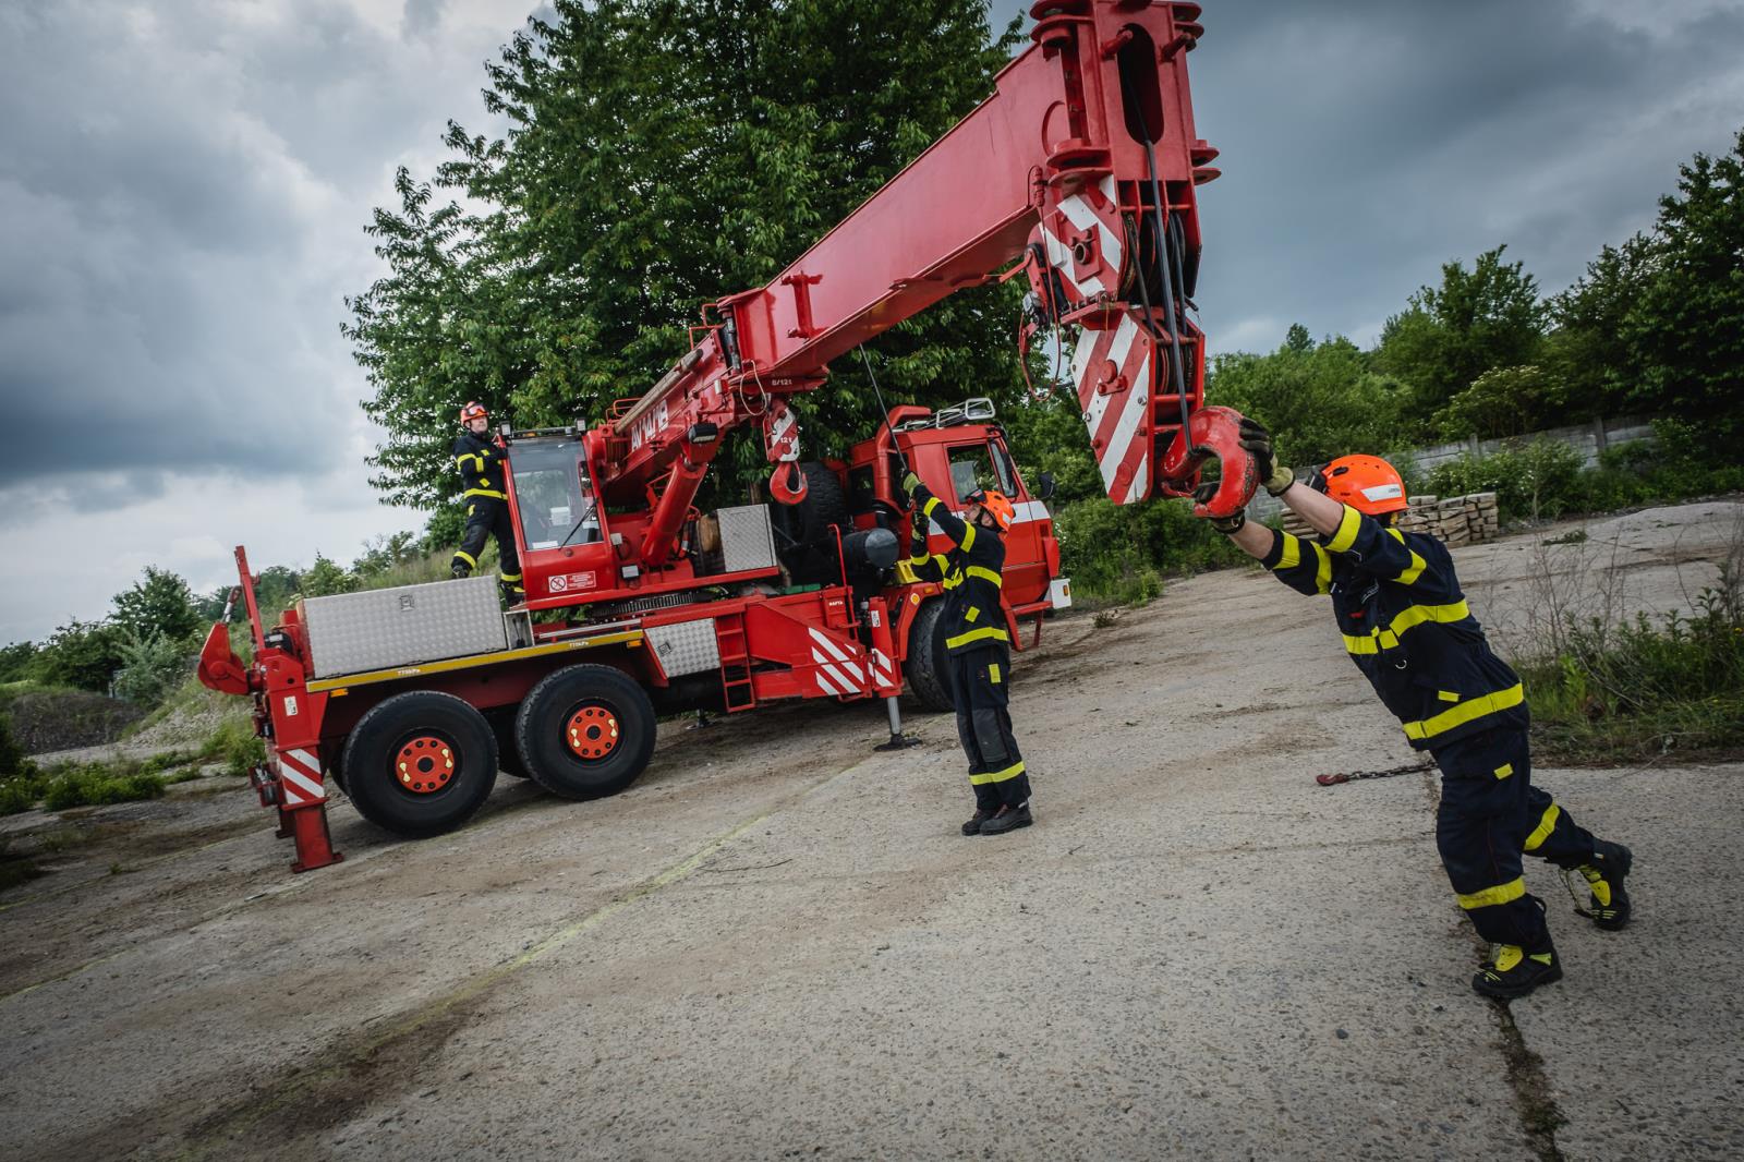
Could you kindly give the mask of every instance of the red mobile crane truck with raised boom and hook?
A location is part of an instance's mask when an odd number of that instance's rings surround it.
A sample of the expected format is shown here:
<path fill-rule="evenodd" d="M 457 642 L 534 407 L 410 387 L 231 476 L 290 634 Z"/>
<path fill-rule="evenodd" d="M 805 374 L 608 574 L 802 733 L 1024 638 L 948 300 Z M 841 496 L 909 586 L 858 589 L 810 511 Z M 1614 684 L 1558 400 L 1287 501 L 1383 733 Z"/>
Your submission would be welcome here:
<path fill-rule="evenodd" d="M 792 398 L 957 288 L 1022 270 L 1020 345 L 1074 337 L 1069 387 L 1114 502 L 1184 496 L 1212 448 L 1212 506 L 1245 504 L 1252 466 L 1231 414 L 1200 407 L 1203 335 L 1186 318 L 1195 187 L 1217 174 L 1188 94 L 1198 14 L 1036 3 L 1034 44 L 996 92 L 767 286 L 708 304 L 645 394 L 595 426 L 502 431 L 523 604 L 504 612 L 495 579 L 469 578 L 309 598 L 269 626 L 239 548 L 253 660 L 237 660 L 227 616 L 199 675 L 255 701 L 267 762 L 253 782 L 295 839 L 293 869 L 342 858 L 328 780 L 371 822 L 429 836 L 464 824 L 499 766 L 567 797 L 624 789 L 652 755 L 656 707 L 884 698 L 893 740 L 905 686 L 949 708 L 940 586 L 893 571 L 903 461 L 952 508 L 975 487 L 1013 499 L 1003 614 L 1013 646 L 1020 621 L 1039 635 L 1069 604 L 1052 489 L 1020 478 L 991 403 L 896 407 L 846 462 L 799 457 Z M 692 501 L 720 436 L 748 424 L 776 504 L 705 516 Z"/>

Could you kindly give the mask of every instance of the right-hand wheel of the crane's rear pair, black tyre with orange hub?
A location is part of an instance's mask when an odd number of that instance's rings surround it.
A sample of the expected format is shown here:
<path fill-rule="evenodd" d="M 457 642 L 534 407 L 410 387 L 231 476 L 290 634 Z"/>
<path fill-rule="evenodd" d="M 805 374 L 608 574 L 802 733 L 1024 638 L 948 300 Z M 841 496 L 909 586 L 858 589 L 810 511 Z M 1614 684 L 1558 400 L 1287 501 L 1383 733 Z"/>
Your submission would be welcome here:
<path fill-rule="evenodd" d="M 551 794 L 614 796 L 654 757 L 654 703 L 623 670 L 563 666 L 521 700 L 514 745 L 527 773 Z"/>

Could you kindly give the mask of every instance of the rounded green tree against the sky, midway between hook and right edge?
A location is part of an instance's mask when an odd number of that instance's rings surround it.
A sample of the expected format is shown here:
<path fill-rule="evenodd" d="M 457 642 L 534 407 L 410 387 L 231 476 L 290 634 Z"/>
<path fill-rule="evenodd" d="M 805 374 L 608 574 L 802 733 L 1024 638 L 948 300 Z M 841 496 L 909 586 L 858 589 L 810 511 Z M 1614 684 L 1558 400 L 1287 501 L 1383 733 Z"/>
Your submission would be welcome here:
<path fill-rule="evenodd" d="M 1376 366 L 1411 387 L 1409 415 L 1434 415 L 1489 368 L 1536 358 L 1545 323 L 1538 283 L 1523 263 L 1502 262 L 1505 249 L 1484 251 L 1470 270 L 1444 263 L 1441 286 L 1418 288 L 1381 328 Z"/>

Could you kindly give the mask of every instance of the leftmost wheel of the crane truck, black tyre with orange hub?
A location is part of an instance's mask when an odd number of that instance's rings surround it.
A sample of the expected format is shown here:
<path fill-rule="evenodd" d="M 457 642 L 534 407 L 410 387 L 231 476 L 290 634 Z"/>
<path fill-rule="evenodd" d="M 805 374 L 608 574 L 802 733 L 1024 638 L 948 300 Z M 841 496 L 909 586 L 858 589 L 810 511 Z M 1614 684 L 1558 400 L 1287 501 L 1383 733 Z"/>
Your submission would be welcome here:
<path fill-rule="evenodd" d="M 419 839 L 453 830 L 497 785 L 497 736 L 453 694 L 415 689 L 373 707 L 345 738 L 345 794 L 366 820 Z"/>

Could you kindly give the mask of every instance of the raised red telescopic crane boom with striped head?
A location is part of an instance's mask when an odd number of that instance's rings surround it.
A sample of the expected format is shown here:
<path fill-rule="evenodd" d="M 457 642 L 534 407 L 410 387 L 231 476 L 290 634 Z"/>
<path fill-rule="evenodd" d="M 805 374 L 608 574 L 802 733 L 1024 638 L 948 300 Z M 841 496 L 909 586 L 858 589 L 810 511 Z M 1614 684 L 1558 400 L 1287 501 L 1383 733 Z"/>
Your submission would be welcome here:
<path fill-rule="evenodd" d="M 771 489 L 797 499 L 802 480 L 781 468 L 799 459 L 788 398 L 821 384 L 830 359 L 1013 262 L 1032 288 L 1025 335 L 1073 340 L 1062 386 L 1109 497 L 1191 483 L 1162 464 L 1203 400 L 1188 298 L 1195 187 L 1217 171 L 1188 89 L 1200 5 L 1043 0 L 1031 14 L 1034 44 L 991 98 L 767 286 L 713 304 L 701 342 L 612 420 L 607 497 L 644 499 L 664 478 L 645 558 L 664 558 L 722 433 L 759 422 Z"/>

